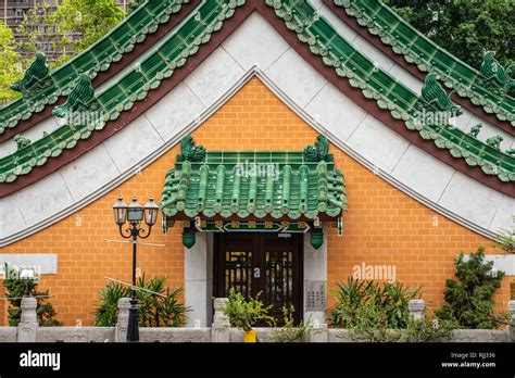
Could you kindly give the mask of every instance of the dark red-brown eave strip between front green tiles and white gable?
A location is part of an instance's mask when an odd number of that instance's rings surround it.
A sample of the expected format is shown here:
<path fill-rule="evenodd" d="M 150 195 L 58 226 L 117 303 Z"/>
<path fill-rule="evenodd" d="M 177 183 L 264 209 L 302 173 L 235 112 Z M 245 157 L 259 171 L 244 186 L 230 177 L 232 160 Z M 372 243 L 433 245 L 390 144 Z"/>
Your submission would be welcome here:
<path fill-rule="evenodd" d="M 413 133 L 412 130 L 407 129 L 404 121 L 400 119 L 400 117 L 393 116 L 390 111 L 379 109 L 375 103 L 376 101 L 370 100 L 369 97 L 363 94 L 362 90 L 350 84 L 349 80 L 343 80 L 340 77 L 341 75 L 338 75 L 335 70 L 331 70 L 327 66 L 327 62 L 323 62 L 322 60 L 317 59 L 312 49 L 306 49 L 305 43 L 299 40 L 298 35 L 289 32 L 288 26 L 284 23 L 284 21 L 275 15 L 274 9 L 269 8 L 262 1 L 247 1 L 247 3 L 241 7 L 240 11 L 236 12 L 236 14 L 229 20 L 225 21 L 225 27 L 215 33 L 211 41 L 206 43 L 205 47 L 198 49 L 198 53 L 194 53 L 191 58 L 189 58 L 187 65 L 176 67 L 174 75 L 169 79 L 163 79 L 162 83 L 160 81 L 160 86 L 158 86 L 154 90 L 149 91 L 148 96 L 146 94 L 145 102 L 134 102 L 134 104 L 131 103 L 129 108 L 130 112 L 121 111 L 121 113 L 118 113 L 118 115 L 112 122 L 109 122 L 104 128 L 99 131 L 95 131 L 93 137 L 78 140 L 78 143 L 76 143 L 77 147 L 63 150 L 60 159 L 51 159 L 43 166 L 34 166 L 34 168 L 30 169 L 28 174 L 18 177 L 14 182 L 0 184 L 0 197 L 16 191 L 48 175 L 49 173 L 56 171 L 59 167 L 80 156 L 86 151 L 126 126 L 139 114 L 145 112 L 145 110 L 158 102 L 160 98 L 166 94 L 190 72 L 192 72 L 197 65 L 200 64 L 202 60 L 205 59 L 211 53 L 211 51 L 213 51 L 228 35 L 230 35 L 254 9 L 258 10 L 274 26 L 274 28 L 276 28 L 284 36 L 284 38 L 296 49 L 296 51 L 301 54 L 301 56 L 303 56 L 315 70 L 323 74 L 339 90 L 344 92 L 346 96 L 350 97 L 361 108 L 374 115 L 374 117 L 381 121 L 398 134 L 401 134 L 415 146 L 435 155 L 437 159 L 448 163 L 454 168 L 491 188 L 514 197 L 515 188 L 513 187 L 513 184 L 502 182 L 494 176 L 486 175 L 481 171 L 481 167 L 473 167 L 468 165 L 467 162 L 465 162 L 465 159 L 453 158 L 453 155 L 451 155 L 448 151 L 442 150 L 441 147 L 437 147 L 432 140 L 424 140 L 417 133 Z"/>

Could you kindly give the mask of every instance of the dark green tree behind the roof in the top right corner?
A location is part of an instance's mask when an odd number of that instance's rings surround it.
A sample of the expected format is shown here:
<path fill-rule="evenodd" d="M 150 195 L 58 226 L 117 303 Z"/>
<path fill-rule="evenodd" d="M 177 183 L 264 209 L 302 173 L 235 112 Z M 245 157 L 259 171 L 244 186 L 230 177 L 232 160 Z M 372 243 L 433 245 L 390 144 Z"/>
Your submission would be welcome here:
<path fill-rule="evenodd" d="M 385 0 L 412 24 L 462 61 L 479 70 L 485 50 L 504 66 L 515 62 L 513 0 Z"/>

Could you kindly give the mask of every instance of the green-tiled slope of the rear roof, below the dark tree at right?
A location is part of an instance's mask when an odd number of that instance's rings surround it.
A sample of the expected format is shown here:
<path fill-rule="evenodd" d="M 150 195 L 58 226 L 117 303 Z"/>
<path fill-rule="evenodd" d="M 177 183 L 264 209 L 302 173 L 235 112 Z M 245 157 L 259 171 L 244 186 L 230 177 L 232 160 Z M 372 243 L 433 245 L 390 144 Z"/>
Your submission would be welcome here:
<path fill-rule="evenodd" d="M 495 80 L 485 76 L 488 70 L 479 72 L 453 56 L 381 0 L 334 0 L 334 3 L 344 8 L 348 15 L 355 17 L 372 35 L 380 37 L 406 62 L 415 64 L 422 72 L 438 73 L 442 83 L 454 88 L 460 97 L 470 99 L 487 113 L 494 113 L 499 119 L 507 121 L 515 127 L 515 99 L 506 94 L 507 88 L 515 87 L 513 79 L 506 75 L 500 75 Z M 488 65 L 491 58 L 491 53 L 487 53 L 483 65 Z"/>

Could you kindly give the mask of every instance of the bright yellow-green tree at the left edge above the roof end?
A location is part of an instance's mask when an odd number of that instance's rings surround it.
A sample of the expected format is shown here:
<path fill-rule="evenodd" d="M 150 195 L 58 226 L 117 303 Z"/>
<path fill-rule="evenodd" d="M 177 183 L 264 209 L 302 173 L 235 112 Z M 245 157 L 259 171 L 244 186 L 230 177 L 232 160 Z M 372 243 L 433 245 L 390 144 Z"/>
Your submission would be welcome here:
<path fill-rule="evenodd" d="M 12 30 L 0 21 L 0 106 L 20 94 L 10 89 L 23 74 Z"/>

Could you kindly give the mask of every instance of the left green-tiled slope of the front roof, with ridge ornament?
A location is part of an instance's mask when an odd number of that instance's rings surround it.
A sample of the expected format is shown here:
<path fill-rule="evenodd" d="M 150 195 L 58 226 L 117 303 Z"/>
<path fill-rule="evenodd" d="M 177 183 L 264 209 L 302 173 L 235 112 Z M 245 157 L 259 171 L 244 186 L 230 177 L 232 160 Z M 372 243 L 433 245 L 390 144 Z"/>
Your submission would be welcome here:
<path fill-rule="evenodd" d="M 203 1 L 131 71 L 88 100 L 88 110 L 101 112 L 102 118 L 83 124 L 70 124 L 68 119 L 55 131 L 0 159 L 0 182 L 12 182 L 18 176 L 28 174 L 33 167 L 46 164 L 48 159 L 59 156 L 63 150 L 73 149 L 77 141 L 88 139 L 96 130 L 103 129 L 105 123 L 129 111 L 136 101 L 145 100 L 150 90 L 161 85 L 161 80 L 171 77 L 176 67 L 185 65 L 188 58 L 196 54 L 200 46 L 206 43 L 211 35 L 219 30 L 224 21 L 242 4 L 244 0 Z"/>

